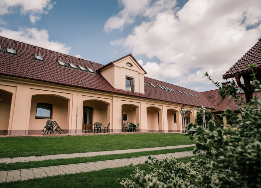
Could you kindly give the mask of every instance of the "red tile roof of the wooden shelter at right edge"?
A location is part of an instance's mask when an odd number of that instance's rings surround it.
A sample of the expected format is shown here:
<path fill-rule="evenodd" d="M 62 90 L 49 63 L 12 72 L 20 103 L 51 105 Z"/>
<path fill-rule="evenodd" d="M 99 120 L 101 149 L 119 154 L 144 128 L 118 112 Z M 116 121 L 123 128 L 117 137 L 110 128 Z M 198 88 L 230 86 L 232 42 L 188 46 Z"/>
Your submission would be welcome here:
<path fill-rule="evenodd" d="M 261 39 L 223 75 L 223 78 L 232 78 L 238 73 L 243 75 L 251 72 L 246 67 L 250 63 L 256 64 L 254 70 L 261 70 Z"/>

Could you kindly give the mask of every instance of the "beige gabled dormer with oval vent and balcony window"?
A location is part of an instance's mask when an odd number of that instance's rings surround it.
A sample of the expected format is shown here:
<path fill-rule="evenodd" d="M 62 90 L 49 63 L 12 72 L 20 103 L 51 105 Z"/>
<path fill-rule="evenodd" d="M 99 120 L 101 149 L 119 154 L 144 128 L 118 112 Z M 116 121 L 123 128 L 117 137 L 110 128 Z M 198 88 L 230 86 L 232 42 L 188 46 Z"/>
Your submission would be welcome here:
<path fill-rule="evenodd" d="M 128 54 L 97 70 L 114 89 L 144 94 L 144 75 L 147 72 Z"/>

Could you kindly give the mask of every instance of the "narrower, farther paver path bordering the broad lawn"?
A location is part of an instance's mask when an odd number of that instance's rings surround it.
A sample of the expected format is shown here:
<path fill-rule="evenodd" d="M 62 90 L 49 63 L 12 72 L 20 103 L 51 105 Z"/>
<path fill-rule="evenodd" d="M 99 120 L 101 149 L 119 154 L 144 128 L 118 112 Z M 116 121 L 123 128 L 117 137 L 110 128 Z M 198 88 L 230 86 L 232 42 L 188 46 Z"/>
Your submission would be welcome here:
<path fill-rule="evenodd" d="M 43 161 L 43 160 L 48 160 L 48 159 L 59 159 L 59 158 L 92 157 L 92 156 L 96 156 L 96 155 L 111 155 L 111 154 L 133 153 L 133 152 L 139 152 L 139 151 L 154 151 L 154 150 L 162 150 L 162 149 L 186 148 L 186 147 L 190 147 L 190 146 L 195 146 L 195 144 L 156 147 L 156 148 L 140 148 L 140 149 L 125 149 L 125 150 L 114 150 L 114 151 L 97 151 L 97 152 L 88 152 L 88 153 L 46 155 L 46 156 L 39 156 L 39 157 L 33 156 L 33 157 L 0 158 L 0 163 Z"/>

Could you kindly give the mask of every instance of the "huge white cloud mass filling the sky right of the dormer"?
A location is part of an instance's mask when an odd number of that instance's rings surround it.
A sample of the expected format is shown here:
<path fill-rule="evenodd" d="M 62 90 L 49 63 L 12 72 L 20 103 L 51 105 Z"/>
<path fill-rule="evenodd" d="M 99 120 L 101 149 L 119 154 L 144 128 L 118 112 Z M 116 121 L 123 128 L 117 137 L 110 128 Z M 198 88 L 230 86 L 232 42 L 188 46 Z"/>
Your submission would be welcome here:
<path fill-rule="evenodd" d="M 157 57 L 158 63 L 143 63 L 150 77 L 172 78 L 183 85 L 209 84 L 204 77 L 208 72 L 215 81 L 223 82 L 222 75 L 261 36 L 259 0 L 189 0 L 178 11 L 175 4 L 166 6 L 170 1 L 160 2 L 136 13 L 146 21 L 128 37 L 111 41 L 127 51 L 134 47 L 133 55 Z"/>

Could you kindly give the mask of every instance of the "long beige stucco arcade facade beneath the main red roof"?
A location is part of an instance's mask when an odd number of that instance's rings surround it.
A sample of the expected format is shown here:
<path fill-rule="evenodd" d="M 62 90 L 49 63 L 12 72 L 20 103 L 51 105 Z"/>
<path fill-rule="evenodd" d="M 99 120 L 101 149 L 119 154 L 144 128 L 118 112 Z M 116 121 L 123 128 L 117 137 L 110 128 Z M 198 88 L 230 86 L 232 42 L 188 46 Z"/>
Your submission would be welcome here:
<path fill-rule="evenodd" d="M 93 107 L 92 123 L 100 122 L 104 124 L 104 126 L 107 126 L 110 122 L 110 132 L 121 132 L 121 110 L 126 111 L 128 114 L 128 122 L 130 121 L 134 124 L 140 123 L 139 128 L 142 132 L 172 132 L 172 130 L 179 132 L 182 130 L 182 118 L 179 113 L 183 107 L 182 104 L 6 76 L 0 76 L 0 89 L 12 93 L 8 135 L 31 134 L 33 130 L 42 130 L 43 124 L 45 124 L 47 120 L 35 119 L 35 108 L 38 101 L 54 104 L 53 120 L 57 121 L 63 129 L 68 130 L 68 133 L 82 133 L 83 106 Z M 45 97 L 41 98 L 41 96 Z M 67 101 L 67 103 L 65 101 Z M 59 105 L 60 107 L 56 109 L 55 106 L 58 107 Z M 128 105 L 135 107 L 135 111 L 133 108 L 131 109 L 130 106 L 128 108 Z M 183 109 L 190 108 L 193 108 L 193 106 L 185 105 Z M 4 108 L 4 110 L 5 109 L 6 108 Z M 155 113 L 155 109 L 157 109 L 157 113 Z M 176 111 L 176 125 L 173 125 L 172 121 L 170 121 L 172 115 L 168 115 L 167 111 L 171 111 L 172 113 L 172 110 L 169 109 Z M 2 110 L 1 106 L 0 110 Z M 67 116 L 65 114 L 67 114 Z M 193 113 L 192 115 L 194 116 Z M 63 123 L 60 123 L 60 121 L 62 121 L 59 120 L 61 117 L 65 117 Z M 191 118 L 191 122 L 192 119 L 194 118 Z M 66 126 L 63 126 L 63 124 L 66 124 Z M 42 134 L 42 132 L 40 132 L 40 134 Z"/>

